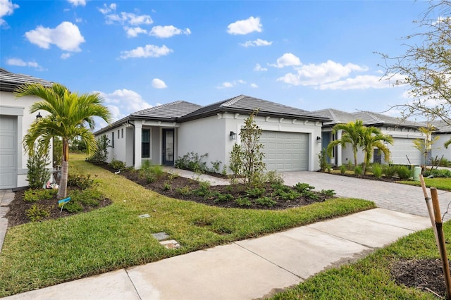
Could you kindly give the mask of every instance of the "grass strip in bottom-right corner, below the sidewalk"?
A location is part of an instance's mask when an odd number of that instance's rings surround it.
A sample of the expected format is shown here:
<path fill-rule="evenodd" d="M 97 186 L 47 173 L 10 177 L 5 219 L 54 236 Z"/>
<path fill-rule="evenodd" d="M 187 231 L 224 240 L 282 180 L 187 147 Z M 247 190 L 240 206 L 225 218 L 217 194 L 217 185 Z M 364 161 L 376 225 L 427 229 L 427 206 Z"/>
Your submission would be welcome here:
<path fill-rule="evenodd" d="M 450 240 L 451 223 L 445 223 L 443 230 Z M 447 253 L 451 253 L 449 243 Z M 323 271 L 272 299 L 437 299 L 432 293 L 395 284 L 390 265 L 402 258 L 440 258 L 433 231 L 416 232 L 357 263 Z"/>

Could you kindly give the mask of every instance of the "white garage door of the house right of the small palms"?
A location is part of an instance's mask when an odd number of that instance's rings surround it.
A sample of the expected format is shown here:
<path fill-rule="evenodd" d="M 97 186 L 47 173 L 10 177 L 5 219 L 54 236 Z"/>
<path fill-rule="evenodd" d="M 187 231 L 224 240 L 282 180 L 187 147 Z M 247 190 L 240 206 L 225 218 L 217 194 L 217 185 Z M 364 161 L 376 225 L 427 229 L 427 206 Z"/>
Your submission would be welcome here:
<path fill-rule="evenodd" d="M 402 139 L 400 137 L 393 138 L 393 145 L 390 145 L 391 161 L 402 165 L 409 164 L 421 165 L 421 152 L 414 147 L 414 139 Z M 407 157 L 409 160 L 407 160 Z"/>

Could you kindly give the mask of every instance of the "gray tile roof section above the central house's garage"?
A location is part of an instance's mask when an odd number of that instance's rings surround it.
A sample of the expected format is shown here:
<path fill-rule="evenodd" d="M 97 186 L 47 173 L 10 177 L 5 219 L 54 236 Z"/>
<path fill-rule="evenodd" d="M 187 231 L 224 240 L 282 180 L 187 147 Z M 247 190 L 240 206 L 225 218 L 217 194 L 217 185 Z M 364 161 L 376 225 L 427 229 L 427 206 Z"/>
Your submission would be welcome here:
<path fill-rule="evenodd" d="M 204 118 L 216 113 L 252 113 L 255 108 L 259 108 L 259 115 L 272 116 L 276 118 L 295 118 L 302 120 L 315 120 L 326 122 L 330 118 L 323 117 L 317 113 L 311 113 L 299 108 L 285 106 L 271 101 L 254 98 L 251 96 L 235 96 L 230 99 L 216 102 L 214 104 L 199 108 L 197 111 L 188 113 L 180 118 L 181 122 Z"/>

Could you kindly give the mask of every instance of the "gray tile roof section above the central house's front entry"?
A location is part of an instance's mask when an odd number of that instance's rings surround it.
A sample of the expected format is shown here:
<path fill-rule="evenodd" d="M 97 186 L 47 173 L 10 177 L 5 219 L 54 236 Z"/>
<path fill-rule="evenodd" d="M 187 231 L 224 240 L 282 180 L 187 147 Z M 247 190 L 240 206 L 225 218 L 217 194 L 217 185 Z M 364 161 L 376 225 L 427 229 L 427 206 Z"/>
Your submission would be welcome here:
<path fill-rule="evenodd" d="M 175 101 L 137 111 L 136 113 L 130 114 L 130 119 L 175 121 L 183 115 L 196 111 L 199 108 L 202 108 L 202 106 L 187 101 Z"/>

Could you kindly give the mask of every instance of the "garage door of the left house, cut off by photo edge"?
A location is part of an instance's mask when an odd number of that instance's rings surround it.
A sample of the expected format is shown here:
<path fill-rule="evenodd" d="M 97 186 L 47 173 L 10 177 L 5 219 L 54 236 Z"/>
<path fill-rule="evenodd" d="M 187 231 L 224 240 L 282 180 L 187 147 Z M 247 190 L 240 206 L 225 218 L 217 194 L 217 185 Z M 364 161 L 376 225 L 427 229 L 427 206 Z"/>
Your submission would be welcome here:
<path fill-rule="evenodd" d="M 17 117 L 0 115 L 0 189 L 17 187 Z"/>

